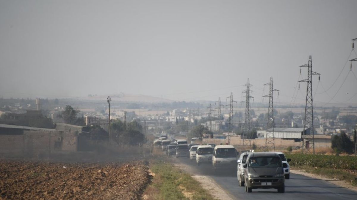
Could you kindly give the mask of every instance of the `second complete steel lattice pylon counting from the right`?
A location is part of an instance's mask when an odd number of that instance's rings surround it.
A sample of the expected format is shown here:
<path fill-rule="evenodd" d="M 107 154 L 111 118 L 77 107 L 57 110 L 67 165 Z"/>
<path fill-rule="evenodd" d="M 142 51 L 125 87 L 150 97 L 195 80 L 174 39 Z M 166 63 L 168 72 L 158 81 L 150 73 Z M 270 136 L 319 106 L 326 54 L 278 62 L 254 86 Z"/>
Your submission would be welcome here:
<path fill-rule="evenodd" d="M 268 123 L 267 123 L 267 133 L 265 138 L 265 148 L 274 149 L 275 151 L 273 92 L 279 90 L 273 88 L 273 77 L 270 77 L 270 82 L 264 85 L 269 85 L 269 95 L 263 96 L 263 97 L 269 97 Z"/>

